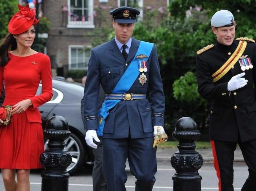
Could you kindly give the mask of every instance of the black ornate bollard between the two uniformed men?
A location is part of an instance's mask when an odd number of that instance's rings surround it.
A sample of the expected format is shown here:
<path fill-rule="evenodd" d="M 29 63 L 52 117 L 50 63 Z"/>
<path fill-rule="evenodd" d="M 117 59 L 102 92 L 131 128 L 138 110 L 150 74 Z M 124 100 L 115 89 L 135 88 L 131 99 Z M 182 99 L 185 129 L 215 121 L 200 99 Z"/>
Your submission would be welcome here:
<path fill-rule="evenodd" d="M 202 156 L 195 151 L 200 137 L 196 122 L 190 117 L 182 117 L 175 124 L 173 138 L 178 141 L 178 151 L 171 158 L 176 170 L 172 177 L 173 191 L 201 191 L 202 177 L 198 169 L 203 165 Z"/>

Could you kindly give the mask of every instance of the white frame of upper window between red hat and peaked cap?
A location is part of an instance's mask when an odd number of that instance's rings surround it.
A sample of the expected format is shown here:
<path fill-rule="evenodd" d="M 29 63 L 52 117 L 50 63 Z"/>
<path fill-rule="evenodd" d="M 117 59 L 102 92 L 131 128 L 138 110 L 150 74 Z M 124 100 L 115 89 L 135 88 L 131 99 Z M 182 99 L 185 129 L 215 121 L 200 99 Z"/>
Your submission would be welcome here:
<path fill-rule="evenodd" d="M 68 24 L 67 28 L 84 28 L 84 29 L 94 29 L 94 16 L 93 16 L 93 7 L 94 7 L 94 0 L 88 0 L 88 16 L 90 16 L 89 21 L 71 21 L 70 14 L 68 14 Z M 83 1 L 82 1 L 83 4 Z M 71 12 L 70 9 L 70 0 L 67 0 L 68 5 L 68 13 Z"/>

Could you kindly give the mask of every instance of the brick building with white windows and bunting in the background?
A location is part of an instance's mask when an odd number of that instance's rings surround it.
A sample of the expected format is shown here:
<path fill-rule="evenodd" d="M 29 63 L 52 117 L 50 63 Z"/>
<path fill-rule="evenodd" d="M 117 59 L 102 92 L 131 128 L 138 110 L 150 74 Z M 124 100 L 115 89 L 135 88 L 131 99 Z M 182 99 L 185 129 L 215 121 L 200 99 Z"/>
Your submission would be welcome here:
<path fill-rule="evenodd" d="M 44 0 L 43 14 L 51 23 L 47 54 L 51 58 L 53 76 L 65 75 L 68 70 L 87 69 L 90 51 L 84 51 L 84 47 L 90 47 L 90 38 L 85 34 L 102 25 L 99 17 L 106 18 L 109 22 L 105 22 L 110 24 L 111 9 L 137 6 L 143 19 L 145 10 L 161 10 L 168 4 L 169 0 Z"/>

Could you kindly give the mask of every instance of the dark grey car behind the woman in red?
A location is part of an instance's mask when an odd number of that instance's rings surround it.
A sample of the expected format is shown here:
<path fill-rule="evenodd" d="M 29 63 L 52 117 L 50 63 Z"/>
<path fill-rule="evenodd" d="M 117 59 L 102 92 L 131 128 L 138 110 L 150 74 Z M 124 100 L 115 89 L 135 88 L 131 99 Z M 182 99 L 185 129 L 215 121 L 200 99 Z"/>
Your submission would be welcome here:
<path fill-rule="evenodd" d="M 67 120 L 71 135 L 65 143 L 66 149 L 72 155 L 72 163 L 67 170 L 70 174 L 74 174 L 86 162 L 92 163 L 94 160 L 92 149 L 88 148 L 84 140 L 86 132 L 80 112 L 84 86 L 80 83 L 68 82 L 62 77 L 53 78 L 52 86 L 53 97 L 51 101 L 39 107 L 42 126 L 44 128 L 46 121 L 55 115 L 62 116 Z M 41 90 L 42 84 L 38 87 L 37 95 L 41 93 Z M 45 141 L 45 148 L 47 148 L 48 140 Z"/>

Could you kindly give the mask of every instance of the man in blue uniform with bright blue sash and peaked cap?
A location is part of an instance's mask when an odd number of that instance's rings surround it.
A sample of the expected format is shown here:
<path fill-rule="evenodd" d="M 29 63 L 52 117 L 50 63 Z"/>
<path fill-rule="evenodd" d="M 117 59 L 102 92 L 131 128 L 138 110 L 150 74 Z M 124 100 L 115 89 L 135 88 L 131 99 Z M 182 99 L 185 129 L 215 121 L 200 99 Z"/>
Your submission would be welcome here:
<path fill-rule="evenodd" d="M 128 158 L 137 191 L 151 191 L 157 171 L 153 135 L 164 133 L 165 97 L 155 45 L 134 39 L 139 11 L 120 7 L 113 15 L 115 38 L 91 50 L 84 88 L 86 142 L 103 144 L 103 173 L 110 191 L 125 191 Z M 99 84 L 106 96 L 96 112 Z M 146 99 L 149 91 L 150 102 Z M 96 133 L 97 132 L 97 133 Z"/>

